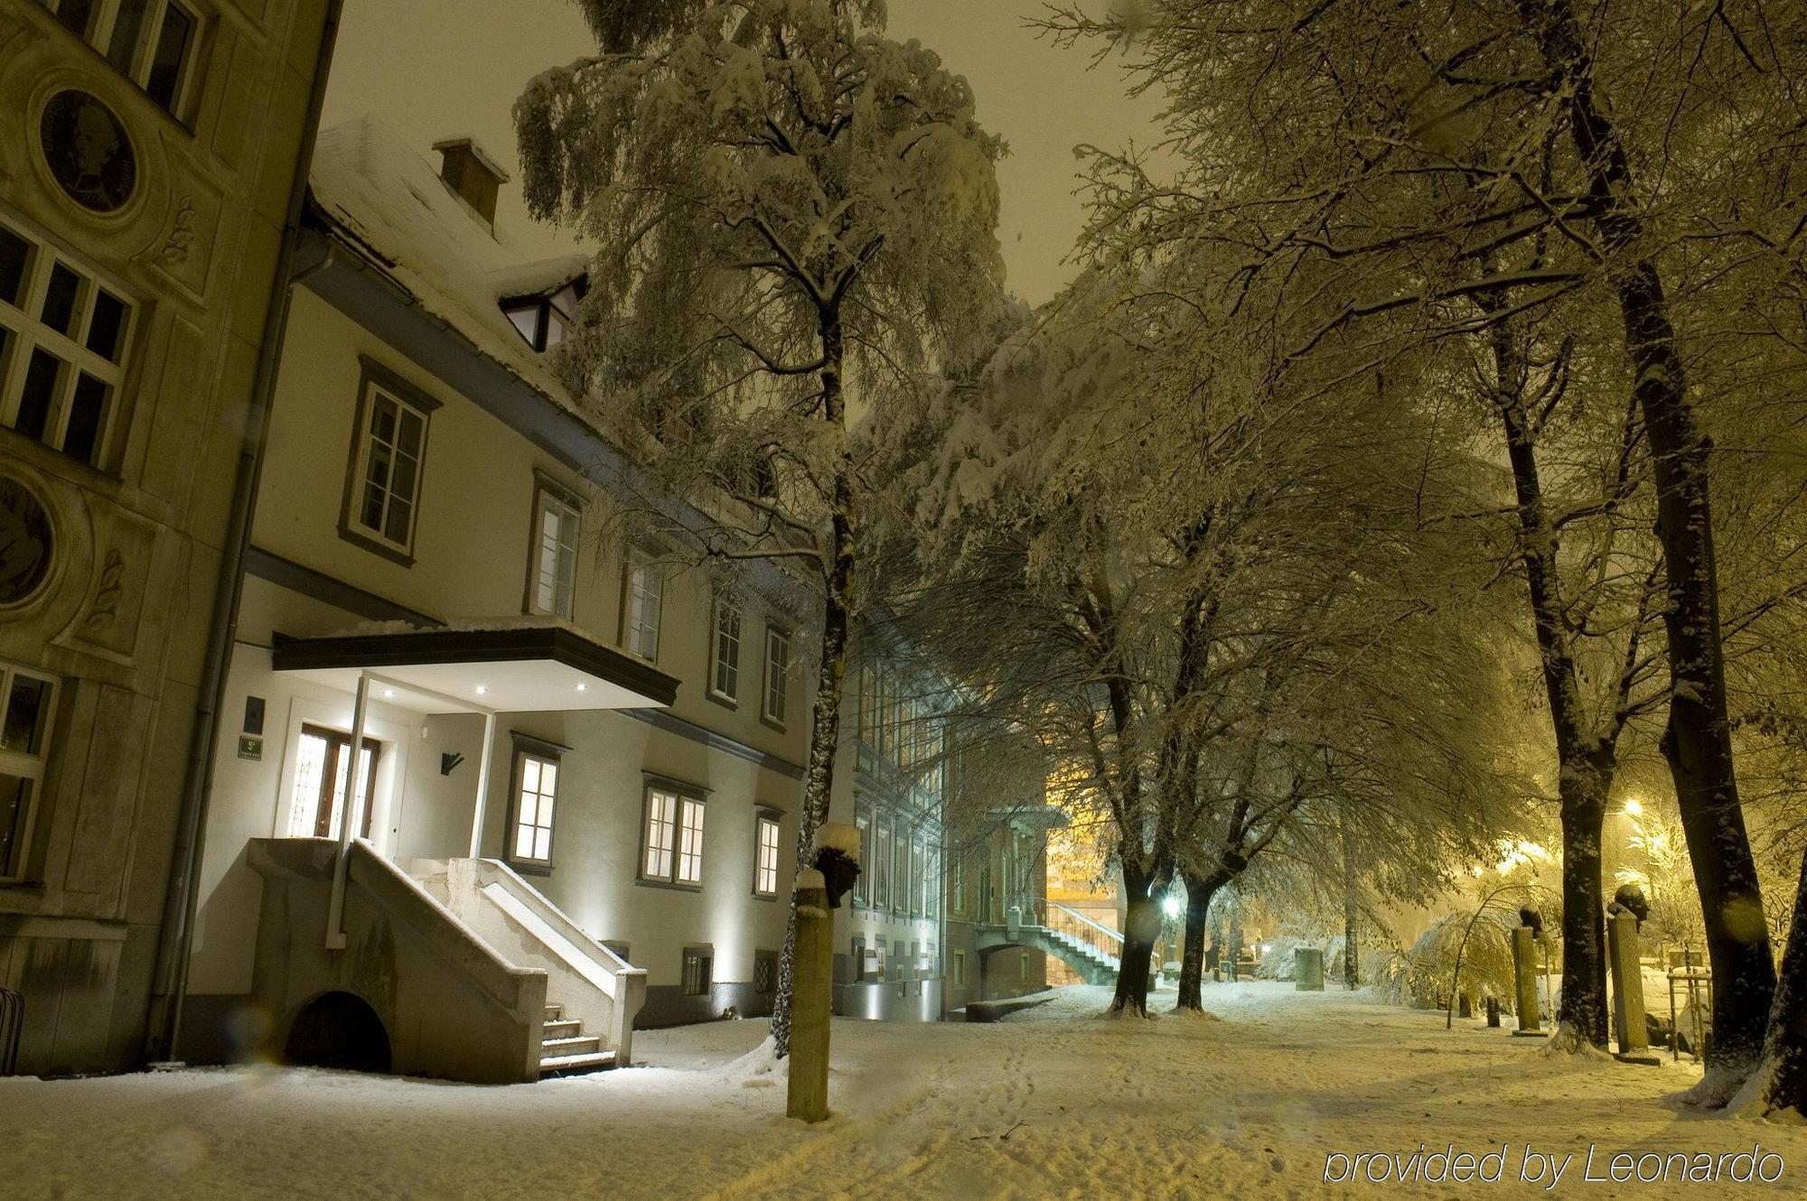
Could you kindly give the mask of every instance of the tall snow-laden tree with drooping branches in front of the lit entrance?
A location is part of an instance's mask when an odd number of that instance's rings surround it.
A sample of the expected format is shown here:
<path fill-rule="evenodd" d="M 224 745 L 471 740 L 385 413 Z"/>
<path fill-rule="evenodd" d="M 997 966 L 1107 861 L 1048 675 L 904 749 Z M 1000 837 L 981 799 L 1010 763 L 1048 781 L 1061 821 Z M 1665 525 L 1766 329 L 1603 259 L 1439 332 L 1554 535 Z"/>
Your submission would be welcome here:
<path fill-rule="evenodd" d="M 544 72 L 515 107 L 529 209 L 595 244 L 562 368 L 660 489 L 710 515 L 681 535 L 815 585 L 806 865 L 862 605 L 855 426 L 871 388 L 985 325 L 1003 146 L 963 78 L 884 36 L 876 0 L 580 7 L 604 52 Z M 781 1055 L 791 946 L 793 932 Z"/>

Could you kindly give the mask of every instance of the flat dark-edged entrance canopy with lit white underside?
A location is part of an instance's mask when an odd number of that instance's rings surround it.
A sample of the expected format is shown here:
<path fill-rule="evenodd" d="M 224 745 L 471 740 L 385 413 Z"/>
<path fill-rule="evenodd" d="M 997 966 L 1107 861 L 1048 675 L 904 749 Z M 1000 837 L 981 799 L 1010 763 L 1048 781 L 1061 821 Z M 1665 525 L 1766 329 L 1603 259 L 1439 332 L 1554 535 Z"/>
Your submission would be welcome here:
<path fill-rule="evenodd" d="M 271 666 L 417 713 L 669 708 L 678 679 L 564 623 L 287 638 Z"/>

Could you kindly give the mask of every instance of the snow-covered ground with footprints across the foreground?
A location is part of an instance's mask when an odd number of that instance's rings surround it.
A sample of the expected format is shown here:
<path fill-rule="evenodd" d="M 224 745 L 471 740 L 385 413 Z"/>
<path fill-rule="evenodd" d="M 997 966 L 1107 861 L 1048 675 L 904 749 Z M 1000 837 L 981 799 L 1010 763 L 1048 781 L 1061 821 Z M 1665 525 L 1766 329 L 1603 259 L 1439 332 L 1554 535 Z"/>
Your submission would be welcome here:
<path fill-rule="evenodd" d="M 1225 1020 L 1097 1020 L 1106 995 L 1059 990 L 990 1026 L 837 1022 L 835 1116 L 817 1127 L 784 1118 L 754 1020 L 641 1033 L 649 1067 L 511 1087 L 249 1067 L 0 1080 L 0 1197 L 1549 1196 L 1520 1181 L 1527 1147 L 1574 1156 L 1558 1196 L 1807 1190 L 1807 1129 L 1661 1102 L 1699 1078 L 1686 1060 L 1550 1060 L 1476 1022 L 1290 984 L 1207 986 Z M 1753 1141 L 1780 1156 L 1774 1185 L 1581 1179 L 1590 1145 L 1610 1176 L 1621 1150 Z M 1325 1183 L 1332 1154 L 1420 1145 L 1503 1147 L 1503 1179 Z"/>

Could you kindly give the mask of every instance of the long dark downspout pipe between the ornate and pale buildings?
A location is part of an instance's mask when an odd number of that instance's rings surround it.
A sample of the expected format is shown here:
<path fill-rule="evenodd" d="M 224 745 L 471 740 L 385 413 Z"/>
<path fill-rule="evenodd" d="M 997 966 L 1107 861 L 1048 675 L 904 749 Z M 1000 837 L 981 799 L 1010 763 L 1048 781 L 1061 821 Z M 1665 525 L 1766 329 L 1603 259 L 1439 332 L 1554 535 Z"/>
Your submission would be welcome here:
<path fill-rule="evenodd" d="M 213 628 L 208 634 L 201 690 L 195 701 L 195 730 L 188 742 L 188 771 L 175 820 L 175 847 L 170 858 L 170 883 L 163 898 L 163 925 L 157 928 L 157 959 L 152 968 L 150 1004 L 145 1022 L 145 1060 L 152 1064 L 172 1060 L 177 1055 L 183 999 L 188 990 L 188 952 L 193 939 L 195 905 L 199 899 L 195 880 L 201 870 L 201 843 L 206 831 L 208 802 L 213 793 L 213 746 L 220 708 L 226 703 L 226 668 L 239 636 L 244 558 L 246 549 L 251 545 L 251 518 L 257 509 L 258 480 L 264 473 L 264 448 L 269 442 L 276 367 L 282 361 L 282 336 L 287 329 L 289 298 L 296 282 L 295 251 L 302 235 L 307 175 L 313 168 L 314 141 L 320 135 L 320 110 L 325 105 L 327 76 L 332 69 L 332 49 L 338 42 L 342 11 L 343 0 L 327 0 L 325 22 L 320 29 L 320 58 L 314 61 L 314 78 L 307 94 L 307 117 L 302 126 L 295 179 L 289 186 L 289 202 L 282 222 L 276 278 L 271 284 L 269 309 L 264 314 L 264 332 L 257 352 L 257 377 L 251 383 L 246 437 L 239 450 L 220 576 L 213 591 Z"/>

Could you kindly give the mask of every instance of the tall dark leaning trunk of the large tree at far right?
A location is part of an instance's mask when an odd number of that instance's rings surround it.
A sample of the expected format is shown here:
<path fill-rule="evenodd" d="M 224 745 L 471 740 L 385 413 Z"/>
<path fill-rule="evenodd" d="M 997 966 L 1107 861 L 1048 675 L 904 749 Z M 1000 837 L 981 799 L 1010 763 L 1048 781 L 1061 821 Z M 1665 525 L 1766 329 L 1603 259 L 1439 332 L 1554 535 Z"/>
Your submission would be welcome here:
<path fill-rule="evenodd" d="M 1662 275 L 1646 255 L 1632 164 L 1594 98 L 1594 63 L 1570 0 L 1520 0 L 1543 61 L 1563 76 L 1568 130 L 1588 173 L 1592 222 L 1619 300 L 1632 392 L 1644 414 L 1657 482 L 1657 540 L 1668 578 L 1670 721 L 1662 757 L 1675 780 L 1713 966 L 1713 1067 L 1737 1080 L 1755 1067 L 1776 990 L 1756 863 L 1744 829 L 1726 706 L 1718 578 L 1706 435 L 1688 401 Z"/>

